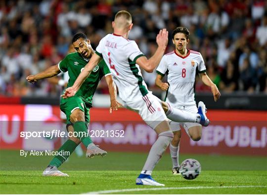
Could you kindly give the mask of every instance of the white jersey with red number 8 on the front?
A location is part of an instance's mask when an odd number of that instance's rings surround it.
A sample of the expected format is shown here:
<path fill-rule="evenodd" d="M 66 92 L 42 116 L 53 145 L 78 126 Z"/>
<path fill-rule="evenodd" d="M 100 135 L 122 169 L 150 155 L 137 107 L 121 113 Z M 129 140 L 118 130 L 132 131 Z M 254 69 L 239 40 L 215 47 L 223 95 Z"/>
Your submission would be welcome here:
<path fill-rule="evenodd" d="M 165 54 L 157 68 L 157 73 L 168 75 L 170 84 L 165 101 L 175 106 L 196 105 L 194 85 L 196 73 L 206 72 L 200 52 L 189 50 L 183 57 L 175 50 Z"/>

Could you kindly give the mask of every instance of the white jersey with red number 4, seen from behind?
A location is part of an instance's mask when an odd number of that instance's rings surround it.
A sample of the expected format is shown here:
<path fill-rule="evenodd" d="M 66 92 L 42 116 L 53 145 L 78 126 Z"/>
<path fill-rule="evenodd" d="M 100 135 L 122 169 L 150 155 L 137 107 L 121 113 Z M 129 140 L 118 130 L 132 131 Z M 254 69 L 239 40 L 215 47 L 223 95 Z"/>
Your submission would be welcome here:
<path fill-rule="evenodd" d="M 135 96 L 148 94 L 139 65 L 135 64 L 144 54 L 135 41 L 108 34 L 100 40 L 95 52 L 108 65 L 123 101 L 133 101 Z"/>

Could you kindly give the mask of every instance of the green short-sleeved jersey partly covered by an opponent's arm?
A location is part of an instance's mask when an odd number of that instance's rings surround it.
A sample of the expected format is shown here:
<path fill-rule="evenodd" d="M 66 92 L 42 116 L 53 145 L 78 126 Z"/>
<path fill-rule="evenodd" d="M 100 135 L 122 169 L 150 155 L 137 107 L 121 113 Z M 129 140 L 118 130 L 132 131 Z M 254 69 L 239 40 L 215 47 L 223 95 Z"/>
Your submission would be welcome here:
<path fill-rule="evenodd" d="M 85 65 L 89 62 L 89 59 L 84 58 L 78 52 L 69 53 L 62 61 L 58 63 L 58 68 L 62 72 L 69 74 L 68 87 L 73 86 L 75 80 L 84 69 Z M 96 87 L 104 75 L 111 74 L 105 61 L 102 59 L 92 70 L 90 76 L 85 80 L 80 90 L 75 96 L 82 97 L 86 104 L 92 107 L 92 97 L 96 90 Z"/>

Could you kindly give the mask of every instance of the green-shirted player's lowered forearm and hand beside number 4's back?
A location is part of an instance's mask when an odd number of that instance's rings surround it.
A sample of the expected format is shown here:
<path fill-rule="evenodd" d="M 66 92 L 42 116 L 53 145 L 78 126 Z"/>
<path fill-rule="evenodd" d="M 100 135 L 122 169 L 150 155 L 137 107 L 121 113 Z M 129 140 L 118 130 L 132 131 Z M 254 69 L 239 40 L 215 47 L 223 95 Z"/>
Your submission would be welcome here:
<path fill-rule="evenodd" d="M 108 75 L 105 77 L 105 79 L 108 85 L 108 91 L 109 91 L 109 96 L 110 96 L 109 113 L 112 113 L 112 110 L 118 110 L 118 107 L 123 106 L 123 105 L 117 101 L 117 86 L 114 83 L 112 76 Z"/>

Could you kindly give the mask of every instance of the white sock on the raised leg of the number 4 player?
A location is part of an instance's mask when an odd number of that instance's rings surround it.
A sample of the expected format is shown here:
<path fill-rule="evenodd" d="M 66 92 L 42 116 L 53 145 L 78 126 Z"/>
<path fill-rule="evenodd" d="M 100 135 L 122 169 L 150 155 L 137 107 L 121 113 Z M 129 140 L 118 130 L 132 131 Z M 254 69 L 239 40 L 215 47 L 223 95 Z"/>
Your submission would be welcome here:
<path fill-rule="evenodd" d="M 199 123 L 200 115 L 193 114 L 184 110 L 179 110 L 175 107 L 172 107 L 168 103 L 168 111 L 166 112 L 166 116 L 175 122 L 191 122 L 191 123 Z"/>

